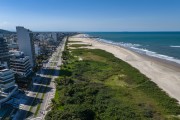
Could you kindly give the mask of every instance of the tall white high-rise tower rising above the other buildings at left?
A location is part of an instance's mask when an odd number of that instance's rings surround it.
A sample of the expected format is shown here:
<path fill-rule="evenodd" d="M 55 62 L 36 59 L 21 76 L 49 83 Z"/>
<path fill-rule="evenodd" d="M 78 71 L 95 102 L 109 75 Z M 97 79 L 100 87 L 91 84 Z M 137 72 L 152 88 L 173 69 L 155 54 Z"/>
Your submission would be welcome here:
<path fill-rule="evenodd" d="M 24 55 L 29 56 L 31 66 L 35 66 L 35 49 L 33 35 L 30 30 L 24 27 L 16 27 L 19 50 L 24 52 Z"/>

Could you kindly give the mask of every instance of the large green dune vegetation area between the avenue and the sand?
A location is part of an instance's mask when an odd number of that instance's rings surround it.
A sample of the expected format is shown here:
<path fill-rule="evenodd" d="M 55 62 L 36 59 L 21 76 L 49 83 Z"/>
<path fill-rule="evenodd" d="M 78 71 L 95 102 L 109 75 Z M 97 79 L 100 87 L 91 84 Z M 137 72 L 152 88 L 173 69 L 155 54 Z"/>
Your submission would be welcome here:
<path fill-rule="evenodd" d="M 126 62 L 100 49 L 68 49 L 46 120 L 176 120 L 180 106 Z"/>

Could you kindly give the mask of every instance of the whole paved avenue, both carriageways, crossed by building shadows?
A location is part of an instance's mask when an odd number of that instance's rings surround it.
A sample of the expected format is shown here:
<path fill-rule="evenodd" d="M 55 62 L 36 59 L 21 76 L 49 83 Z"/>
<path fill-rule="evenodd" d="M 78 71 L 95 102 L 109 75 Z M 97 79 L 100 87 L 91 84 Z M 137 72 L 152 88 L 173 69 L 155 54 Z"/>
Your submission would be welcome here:
<path fill-rule="evenodd" d="M 63 39 L 61 45 L 57 48 L 56 52 L 53 53 L 52 57 L 49 59 L 49 62 L 45 65 L 46 67 L 38 71 L 38 73 L 40 73 L 39 74 L 40 76 L 36 77 L 36 81 L 33 82 L 33 88 L 31 89 L 31 91 L 29 91 L 29 93 L 26 96 L 26 99 L 27 99 L 26 104 L 21 105 L 21 108 L 20 108 L 21 110 L 18 111 L 18 113 L 16 114 L 13 120 L 24 120 L 26 119 L 26 117 L 28 117 L 29 114 L 32 114 L 32 116 L 29 119 L 33 119 L 34 117 L 33 114 L 36 112 L 38 104 L 33 106 L 31 113 L 29 113 L 30 107 L 33 103 L 39 102 L 39 99 L 41 99 L 43 95 L 42 93 L 45 90 L 45 86 L 48 83 L 48 80 L 50 80 L 50 84 L 47 85 L 49 89 L 46 89 L 46 93 L 44 94 L 44 99 L 42 100 L 42 104 L 37 115 L 38 118 L 44 119 L 45 115 L 48 112 L 47 108 L 49 108 L 50 106 L 51 99 L 54 98 L 54 95 L 55 95 L 56 88 L 55 88 L 54 79 L 57 78 L 59 75 L 59 69 L 60 69 L 59 66 L 62 63 L 61 56 L 62 56 L 62 51 L 64 50 L 64 47 L 65 47 L 65 42 L 66 42 L 66 38 Z M 55 66 L 51 64 L 52 61 L 56 62 Z M 52 69 L 54 70 L 54 72 L 50 73 L 50 71 L 48 71 L 47 69 Z M 51 76 L 46 75 L 46 73 L 48 74 L 50 73 Z M 42 86 L 43 86 L 43 89 L 41 89 Z M 36 101 L 33 102 L 37 94 L 38 94 L 37 96 L 38 99 L 35 99 Z M 37 118 L 34 118 L 34 119 L 37 119 Z"/>

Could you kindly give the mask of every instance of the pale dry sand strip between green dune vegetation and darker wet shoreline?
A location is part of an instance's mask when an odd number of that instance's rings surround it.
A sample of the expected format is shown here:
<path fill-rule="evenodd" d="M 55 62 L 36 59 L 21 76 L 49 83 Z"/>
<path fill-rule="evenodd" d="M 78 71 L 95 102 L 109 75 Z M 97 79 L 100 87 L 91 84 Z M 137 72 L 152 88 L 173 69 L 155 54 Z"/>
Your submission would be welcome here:
<path fill-rule="evenodd" d="M 69 41 L 82 41 L 85 44 L 92 45 L 86 48 L 102 49 L 114 54 L 117 58 L 137 68 L 162 90 L 168 93 L 169 96 L 177 99 L 180 103 L 180 65 L 141 55 L 120 46 L 100 42 L 93 38 L 85 38 L 83 36 L 83 34 L 76 35 L 75 37 L 69 38 Z"/>

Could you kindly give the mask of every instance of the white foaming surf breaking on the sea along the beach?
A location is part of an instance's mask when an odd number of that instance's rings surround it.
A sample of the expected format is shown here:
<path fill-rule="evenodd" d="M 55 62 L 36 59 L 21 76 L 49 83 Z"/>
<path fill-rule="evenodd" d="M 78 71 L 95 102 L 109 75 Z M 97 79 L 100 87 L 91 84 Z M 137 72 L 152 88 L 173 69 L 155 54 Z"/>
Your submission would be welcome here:
<path fill-rule="evenodd" d="M 176 59 L 174 57 L 170 57 L 170 56 L 167 56 L 167 55 L 158 54 L 158 53 L 156 53 L 154 51 L 150 51 L 150 50 L 147 50 L 147 49 L 144 49 L 144 48 L 139 48 L 141 46 L 139 44 L 113 42 L 111 40 L 105 40 L 105 39 L 100 39 L 100 38 L 98 38 L 97 40 L 101 41 L 101 42 L 108 43 L 108 44 L 112 44 L 112 45 L 118 45 L 118 46 L 127 48 L 129 50 L 132 50 L 132 51 L 140 53 L 140 54 L 144 54 L 144 55 L 148 55 L 148 56 L 151 56 L 151 57 L 156 57 L 156 58 L 160 58 L 160 59 L 164 59 L 164 60 L 168 60 L 168 61 L 180 64 L 179 59 Z M 174 47 L 180 47 L 180 46 L 174 46 Z"/>

